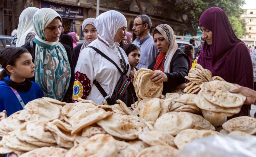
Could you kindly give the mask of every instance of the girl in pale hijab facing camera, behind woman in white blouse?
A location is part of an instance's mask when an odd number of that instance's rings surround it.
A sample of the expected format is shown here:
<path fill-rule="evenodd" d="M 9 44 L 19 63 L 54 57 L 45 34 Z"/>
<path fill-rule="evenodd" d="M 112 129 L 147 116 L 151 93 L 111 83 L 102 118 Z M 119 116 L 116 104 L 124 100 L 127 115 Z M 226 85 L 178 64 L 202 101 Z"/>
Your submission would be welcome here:
<path fill-rule="evenodd" d="M 84 20 L 82 24 L 82 30 L 84 33 L 85 42 L 83 44 L 77 45 L 72 51 L 71 64 L 72 64 L 72 67 L 74 67 L 74 69 L 72 69 L 73 70 L 72 72 L 74 72 L 75 70 L 80 52 L 98 37 L 98 32 L 95 28 L 94 21 L 95 21 L 94 18 L 87 18 Z"/>

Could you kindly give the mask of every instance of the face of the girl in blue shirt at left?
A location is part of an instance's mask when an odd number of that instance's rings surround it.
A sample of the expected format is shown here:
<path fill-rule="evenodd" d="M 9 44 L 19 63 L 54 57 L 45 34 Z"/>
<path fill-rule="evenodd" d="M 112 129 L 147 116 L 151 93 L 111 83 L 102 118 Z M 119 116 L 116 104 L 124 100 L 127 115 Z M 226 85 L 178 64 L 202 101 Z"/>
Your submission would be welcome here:
<path fill-rule="evenodd" d="M 16 60 L 13 67 L 14 73 L 11 73 L 13 77 L 31 78 L 35 75 L 35 64 L 32 62 L 32 56 L 30 53 L 22 53 L 20 58 Z"/>

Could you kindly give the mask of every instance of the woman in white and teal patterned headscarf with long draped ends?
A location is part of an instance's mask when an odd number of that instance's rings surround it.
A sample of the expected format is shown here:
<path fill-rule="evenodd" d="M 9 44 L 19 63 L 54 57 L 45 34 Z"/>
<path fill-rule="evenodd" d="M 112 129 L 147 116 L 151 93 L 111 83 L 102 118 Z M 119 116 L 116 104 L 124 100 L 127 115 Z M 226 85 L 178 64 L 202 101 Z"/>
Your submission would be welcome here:
<path fill-rule="evenodd" d="M 33 43 L 24 47 L 33 56 L 36 83 L 44 95 L 60 101 L 69 101 L 67 96 L 71 77 L 68 55 L 63 45 L 58 42 L 61 33 L 62 19 L 50 8 L 39 9 L 33 17 L 33 30 L 36 36 Z M 71 87 L 72 93 L 72 87 Z"/>

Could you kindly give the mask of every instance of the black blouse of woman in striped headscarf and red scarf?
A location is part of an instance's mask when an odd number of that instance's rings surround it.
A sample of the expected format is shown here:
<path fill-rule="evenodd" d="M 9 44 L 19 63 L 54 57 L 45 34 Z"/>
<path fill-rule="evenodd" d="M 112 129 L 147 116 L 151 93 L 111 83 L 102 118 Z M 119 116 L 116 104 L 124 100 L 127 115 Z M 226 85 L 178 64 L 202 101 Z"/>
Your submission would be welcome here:
<path fill-rule="evenodd" d="M 157 56 L 159 55 L 159 52 Z M 156 56 L 156 58 L 157 58 Z M 156 59 L 154 62 L 148 66 L 148 69 L 153 70 L 156 64 Z M 164 82 L 164 88 L 162 94 L 170 93 L 172 90 L 175 90 L 180 84 L 186 83 L 185 76 L 188 76 L 189 71 L 189 59 L 188 56 L 177 49 L 174 53 L 171 63 L 170 63 L 170 73 L 164 73 L 168 81 Z"/>

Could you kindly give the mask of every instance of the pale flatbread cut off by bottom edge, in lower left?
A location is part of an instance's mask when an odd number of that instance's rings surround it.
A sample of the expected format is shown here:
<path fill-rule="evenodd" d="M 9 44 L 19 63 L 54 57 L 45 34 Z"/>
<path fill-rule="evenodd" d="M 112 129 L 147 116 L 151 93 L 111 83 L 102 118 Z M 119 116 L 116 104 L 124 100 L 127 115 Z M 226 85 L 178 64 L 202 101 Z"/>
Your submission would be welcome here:
<path fill-rule="evenodd" d="M 20 157 L 64 157 L 68 152 L 67 149 L 57 147 L 42 147 L 33 151 L 22 154 Z"/>

